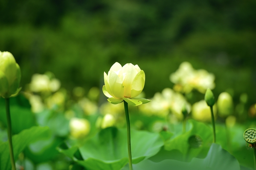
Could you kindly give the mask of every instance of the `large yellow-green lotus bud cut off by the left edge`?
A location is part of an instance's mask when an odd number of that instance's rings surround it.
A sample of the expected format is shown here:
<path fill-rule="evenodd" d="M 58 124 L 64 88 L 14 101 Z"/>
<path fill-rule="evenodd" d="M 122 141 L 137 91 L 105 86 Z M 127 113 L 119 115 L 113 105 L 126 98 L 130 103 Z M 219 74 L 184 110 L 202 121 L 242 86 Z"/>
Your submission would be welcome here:
<path fill-rule="evenodd" d="M 20 77 L 20 66 L 13 55 L 0 51 L 0 96 L 8 98 L 17 94 L 20 91 Z"/>

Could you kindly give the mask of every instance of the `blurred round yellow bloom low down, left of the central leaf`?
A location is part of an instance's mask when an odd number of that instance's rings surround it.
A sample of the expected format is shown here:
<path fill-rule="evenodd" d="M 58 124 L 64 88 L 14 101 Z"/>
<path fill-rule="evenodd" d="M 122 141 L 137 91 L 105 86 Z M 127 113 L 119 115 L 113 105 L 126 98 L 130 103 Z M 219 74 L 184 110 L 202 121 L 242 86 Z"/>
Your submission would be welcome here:
<path fill-rule="evenodd" d="M 72 118 L 70 120 L 70 134 L 73 138 L 83 138 L 89 132 L 90 122 L 87 119 Z"/>

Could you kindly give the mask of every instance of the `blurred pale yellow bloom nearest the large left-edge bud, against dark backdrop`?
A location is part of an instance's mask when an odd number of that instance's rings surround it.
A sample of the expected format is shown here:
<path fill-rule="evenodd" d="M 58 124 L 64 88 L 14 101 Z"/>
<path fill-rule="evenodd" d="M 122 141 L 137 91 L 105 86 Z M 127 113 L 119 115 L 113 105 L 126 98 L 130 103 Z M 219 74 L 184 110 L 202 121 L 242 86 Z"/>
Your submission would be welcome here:
<path fill-rule="evenodd" d="M 50 79 L 45 74 L 34 74 L 32 76 L 29 88 L 33 92 L 51 91 L 55 92 L 61 86 L 61 82 L 58 79 Z"/>

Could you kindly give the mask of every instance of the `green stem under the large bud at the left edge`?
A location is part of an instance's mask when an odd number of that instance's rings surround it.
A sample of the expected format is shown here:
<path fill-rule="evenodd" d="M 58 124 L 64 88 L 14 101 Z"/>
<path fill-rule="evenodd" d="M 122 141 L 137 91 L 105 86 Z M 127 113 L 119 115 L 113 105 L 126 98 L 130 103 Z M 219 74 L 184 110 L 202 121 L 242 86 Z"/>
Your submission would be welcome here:
<path fill-rule="evenodd" d="M 13 155 L 13 146 L 12 146 L 12 122 L 11 122 L 11 114 L 10 114 L 10 99 L 6 98 L 5 100 L 6 100 L 6 118 L 7 118 L 7 131 L 8 131 L 10 158 L 11 158 L 12 170 L 16 170 L 15 160 Z"/>

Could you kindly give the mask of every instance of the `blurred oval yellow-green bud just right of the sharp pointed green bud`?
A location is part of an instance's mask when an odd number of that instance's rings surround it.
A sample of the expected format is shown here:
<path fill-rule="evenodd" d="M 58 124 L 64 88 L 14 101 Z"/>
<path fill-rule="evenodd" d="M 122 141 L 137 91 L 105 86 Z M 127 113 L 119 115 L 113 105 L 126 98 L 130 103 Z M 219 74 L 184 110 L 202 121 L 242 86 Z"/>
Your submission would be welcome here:
<path fill-rule="evenodd" d="M 233 113 L 233 99 L 227 92 L 222 92 L 217 100 L 218 114 L 221 117 L 227 117 Z"/>

